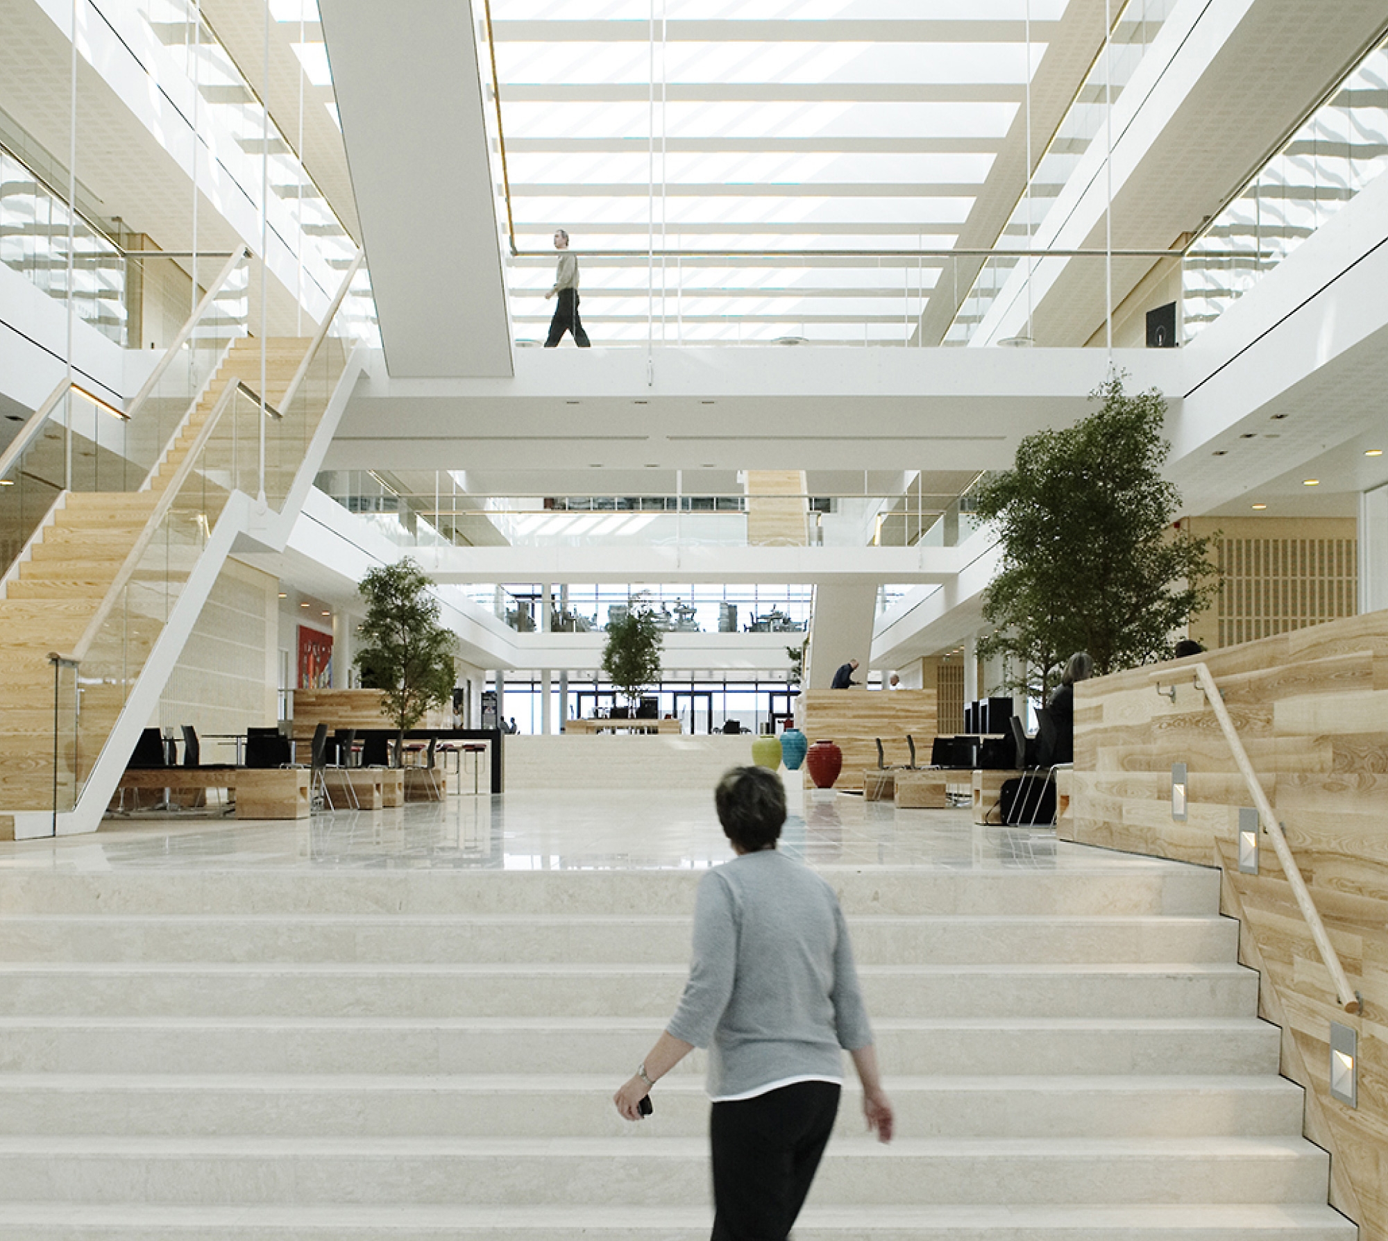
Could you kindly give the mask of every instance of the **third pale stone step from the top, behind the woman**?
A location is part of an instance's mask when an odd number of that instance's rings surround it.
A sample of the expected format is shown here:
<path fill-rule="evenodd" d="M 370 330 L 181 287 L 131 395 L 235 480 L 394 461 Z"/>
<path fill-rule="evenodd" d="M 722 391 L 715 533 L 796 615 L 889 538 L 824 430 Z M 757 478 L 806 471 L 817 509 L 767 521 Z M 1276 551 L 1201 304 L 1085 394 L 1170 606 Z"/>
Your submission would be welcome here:
<path fill-rule="evenodd" d="M 669 1016 L 687 977 L 666 965 L 0 963 L 0 1013 L 54 1016 Z M 1258 1004 L 1237 965 L 863 966 L 877 1019 L 1234 1018 Z"/>

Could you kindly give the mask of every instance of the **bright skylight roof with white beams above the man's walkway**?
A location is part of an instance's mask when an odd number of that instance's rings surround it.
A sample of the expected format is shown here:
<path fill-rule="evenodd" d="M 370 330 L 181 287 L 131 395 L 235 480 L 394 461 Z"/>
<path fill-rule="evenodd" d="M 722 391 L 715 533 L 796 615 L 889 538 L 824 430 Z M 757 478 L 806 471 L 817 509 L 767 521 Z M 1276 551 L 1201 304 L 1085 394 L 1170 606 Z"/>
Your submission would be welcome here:
<path fill-rule="evenodd" d="M 997 240 L 1026 179 L 1027 78 L 1040 150 L 1103 8 L 665 0 L 652 22 L 634 0 L 493 0 L 516 336 L 544 335 L 562 226 L 580 257 L 618 251 L 582 258 L 595 344 L 644 341 L 652 315 L 670 343 L 915 341 L 933 292 L 976 268 L 876 251 Z M 652 303 L 652 246 L 712 254 L 657 260 Z M 863 257 L 775 257 L 805 250 Z"/>

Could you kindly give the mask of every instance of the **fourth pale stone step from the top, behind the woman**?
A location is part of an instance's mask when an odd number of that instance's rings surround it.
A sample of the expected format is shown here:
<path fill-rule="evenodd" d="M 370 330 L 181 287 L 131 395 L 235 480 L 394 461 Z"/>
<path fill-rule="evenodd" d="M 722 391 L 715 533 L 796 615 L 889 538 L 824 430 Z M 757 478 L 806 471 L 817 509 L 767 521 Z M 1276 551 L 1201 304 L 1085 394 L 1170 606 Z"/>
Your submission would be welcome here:
<path fill-rule="evenodd" d="M 0 1018 L 0 1072 L 611 1073 L 662 1018 Z M 1278 1031 L 1255 1018 L 877 1019 L 886 1072 L 1276 1073 Z M 634 1059 L 633 1059 L 634 1058 Z M 704 1054 L 675 1072 L 700 1074 Z M 613 1084 L 613 1090 L 616 1086 Z"/>

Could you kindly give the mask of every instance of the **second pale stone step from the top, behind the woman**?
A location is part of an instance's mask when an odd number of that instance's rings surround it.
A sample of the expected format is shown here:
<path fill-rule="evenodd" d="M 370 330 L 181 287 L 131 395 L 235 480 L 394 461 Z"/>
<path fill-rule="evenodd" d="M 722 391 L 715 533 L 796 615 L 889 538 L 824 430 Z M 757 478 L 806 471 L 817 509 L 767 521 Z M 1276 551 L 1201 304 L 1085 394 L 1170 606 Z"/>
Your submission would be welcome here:
<path fill-rule="evenodd" d="M 51 683 L 46 686 L 51 693 Z M 1230 963 L 1228 918 L 876 916 L 852 926 L 859 965 Z M 28 915 L 6 922 L 3 961 L 677 963 L 687 916 Z"/>

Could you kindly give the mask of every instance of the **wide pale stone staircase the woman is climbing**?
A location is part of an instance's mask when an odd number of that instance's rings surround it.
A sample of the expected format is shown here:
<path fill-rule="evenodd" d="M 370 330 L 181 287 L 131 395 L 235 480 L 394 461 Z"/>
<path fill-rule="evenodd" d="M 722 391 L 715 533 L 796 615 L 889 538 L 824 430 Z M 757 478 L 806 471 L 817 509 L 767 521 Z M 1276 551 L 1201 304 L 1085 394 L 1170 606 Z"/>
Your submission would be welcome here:
<path fill-rule="evenodd" d="M 1213 872 L 829 869 L 899 1137 L 798 1241 L 1352 1241 Z M 0 1241 L 694 1241 L 702 1058 L 608 1102 L 690 872 L 0 875 Z"/>

